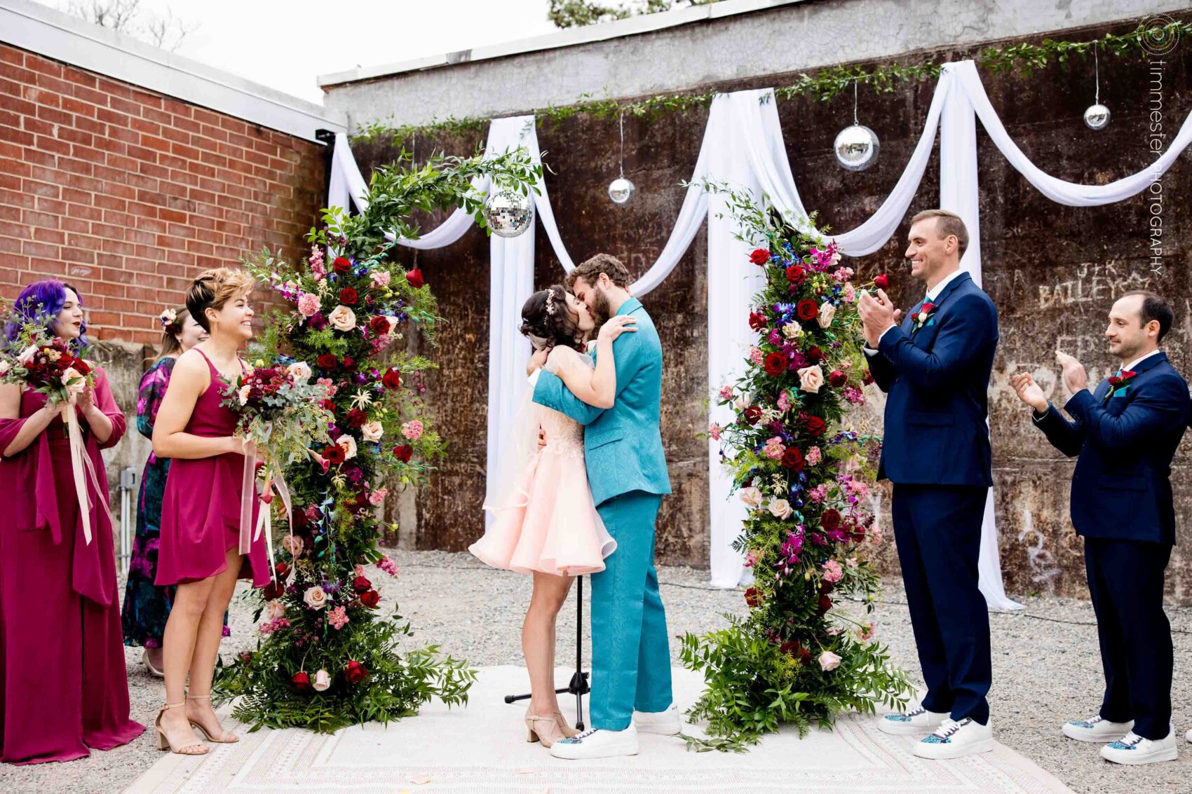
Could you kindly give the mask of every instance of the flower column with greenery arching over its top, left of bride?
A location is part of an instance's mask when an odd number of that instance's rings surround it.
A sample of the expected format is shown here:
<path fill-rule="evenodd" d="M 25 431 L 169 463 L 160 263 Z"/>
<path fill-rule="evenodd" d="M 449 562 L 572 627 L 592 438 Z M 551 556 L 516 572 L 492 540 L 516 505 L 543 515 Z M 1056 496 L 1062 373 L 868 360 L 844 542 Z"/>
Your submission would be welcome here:
<path fill-rule="evenodd" d="M 333 443 L 310 446 L 284 467 L 293 534 L 275 544 L 284 550 L 275 582 L 248 595 L 261 621 L 256 649 L 217 669 L 217 702 L 236 697 L 232 714 L 254 730 L 331 732 L 416 714 L 432 697 L 467 702 L 476 672 L 437 646 L 398 653 L 410 626 L 397 604 L 386 609 L 373 582 L 397 575 L 378 548 L 384 526 L 375 508 L 389 496 L 383 478 L 420 483 L 443 453 L 420 396 L 420 373 L 434 364 L 392 346 L 414 329 L 433 342 L 441 317 L 422 273 L 392 256 L 396 243 L 385 232 L 416 237 L 414 210 L 452 206 L 485 227 L 483 197 L 471 186 L 480 175 L 524 192 L 541 169 L 524 149 L 436 157 L 416 169 L 399 160 L 373 173 L 364 212 L 324 210 L 304 261 L 266 249 L 243 262 L 286 304 L 274 310 L 249 359 L 285 365 L 329 389 L 322 408 L 334 420 L 327 434 L 311 433 Z M 275 511 L 275 527 L 286 527 L 281 500 L 263 509 Z"/>

